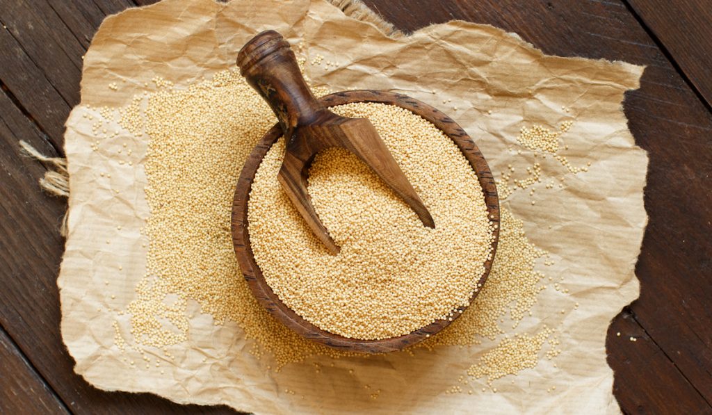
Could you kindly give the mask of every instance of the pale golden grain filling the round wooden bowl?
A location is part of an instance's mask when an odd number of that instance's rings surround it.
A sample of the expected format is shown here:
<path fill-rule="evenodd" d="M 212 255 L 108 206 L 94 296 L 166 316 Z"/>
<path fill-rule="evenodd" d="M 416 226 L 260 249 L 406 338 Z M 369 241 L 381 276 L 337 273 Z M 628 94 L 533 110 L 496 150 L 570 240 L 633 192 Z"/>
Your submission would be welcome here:
<path fill-rule="evenodd" d="M 491 256 L 493 224 L 482 188 L 460 149 L 403 108 L 352 103 L 423 199 L 435 228 L 353 154 L 328 149 L 309 172 L 309 192 L 330 236 L 332 256 L 281 190 L 281 139 L 261 162 L 248 201 L 250 240 L 268 285 L 289 308 L 328 332 L 361 340 L 406 335 L 469 304 Z"/>

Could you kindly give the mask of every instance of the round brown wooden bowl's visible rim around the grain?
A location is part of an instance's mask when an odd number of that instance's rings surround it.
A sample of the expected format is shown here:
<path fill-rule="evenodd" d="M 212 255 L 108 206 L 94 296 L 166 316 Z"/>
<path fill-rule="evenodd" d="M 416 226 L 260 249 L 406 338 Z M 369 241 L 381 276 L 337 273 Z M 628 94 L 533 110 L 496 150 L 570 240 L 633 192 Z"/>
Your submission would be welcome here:
<path fill-rule="evenodd" d="M 320 101 L 328 107 L 360 102 L 397 105 L 420 115 L 434 124 L 448 137 L 450 137 L 453 142 L 455 142 L 466 159 L 470 162 L 483 189 L 489 217 L 493 223 L 497 225 L 499 224 L 499 198 L 497 196 L 497 188 L 489 166 L 470 136 L 467 135 L 467 133 L 459 125 L 457 125 L 454 120 L 451 120 L 451 118 L 443 112 L 440 112 L 434 107 L 422 103 L 419 100 L 410 98 L 407 95 L 377 90 L 354 90 L 342 93 L 333 93 L 320 98 Z M 392 352 L 394 350 L 402 350 L 409 345 L 414 345 L 417 342 L 425 340 L 425 338 L 429 335 L 434 335 L 436 332 L 443 330 L 447 327 L 447 325 L 459 317 L 460 313 L 456 312 L 454 313 L 452 321 L 436 320 L 435 322 L 432 322 L 419 330 L 415 330 L 414 332 L 399 337 L 392 337 L 383 340 L 359 340 L 335 335 L 334 333 L 321 330 L 319 327 L 304 320 L 293 310 L 288 308 L 287 305 L 282 303 L 278 296 L 273 292 L 272 288 L 270 288 L 267 284 L 260 268 L 255 262 L 250 246 L 250 232 L 247 220 L 247 204 L 250 189 L 257 169 L 270 147 L 281 136 L 281 128 L 279 125 L 275 125 L 266 133 L 266 135 L 264 135 L 264 137 L 262 137 L 255 149 L 253 149 L 252 153 L 245 162 L 244 167 L 242 168 L 232 204 L 232 239 L 235 247 L 235 253 L 237 255 L 237 261 L 240 265 L 244 278 L 250 287 L 250 290 L 252 290 L 252 293 L 258 302 L 263 305 L 263 307 L 266 308 L 268 312 L 273 315 L 273 317 L 308 340 L 341 350 L 365 353 L 384 353 Z M 490 257 L 491 259 L 488 259 L 484 263 L 485 272 L 478 280 L 479 284 L 485 283 L 492 266 L 499 238 L 499 226 L 496 226 L 493 235 L 494 241 L 492 243 L 492 256 Z M 475 287 L 473 286 L 473 288 Z M 471 301 L 475 299 L 478 292 L 479 290 L 473 292 Z M 465 308 L 466 307 L 461 307 L 458 310 L 464 310 Z"/>

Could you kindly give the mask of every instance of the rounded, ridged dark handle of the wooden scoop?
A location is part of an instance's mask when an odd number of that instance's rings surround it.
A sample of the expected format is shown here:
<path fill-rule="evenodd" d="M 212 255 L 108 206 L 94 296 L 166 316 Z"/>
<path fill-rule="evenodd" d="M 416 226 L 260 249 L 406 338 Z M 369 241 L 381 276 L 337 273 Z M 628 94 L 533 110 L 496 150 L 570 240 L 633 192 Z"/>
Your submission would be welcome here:
<path fill-rule="evenodd" d="M 287 137 L 325 110 L 307 86 L 289 43 L 276 31 L 263 31 L 248 41 L 237 55 L 237 65 L 277 115 Z"/>

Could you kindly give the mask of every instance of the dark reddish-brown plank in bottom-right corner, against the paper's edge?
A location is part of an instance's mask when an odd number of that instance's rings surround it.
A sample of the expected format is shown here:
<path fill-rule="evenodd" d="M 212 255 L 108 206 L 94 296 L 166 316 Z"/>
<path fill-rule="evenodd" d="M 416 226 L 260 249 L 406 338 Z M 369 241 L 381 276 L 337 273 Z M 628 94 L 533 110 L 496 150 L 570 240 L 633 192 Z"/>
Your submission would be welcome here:
<path fill-rule="evenodd" d="M 631 337 L 636 341 L 632 342 Z M 608 354 L 608 364 L 616 368 L 614 394 L 628 413 L 712 414 L 707 401 L 642 330 L 629 310 L 624 310 L 610 325 L 606 347 L 618 351 Z M 640 364 L 641 361 L 646 364 Z M 645 382 L 644 379 L 650 378 L 659 379 L 664 384 L 686 384 L 688 387 L 676 388 L 672 393 L 657 387 L 654 382 Z"/>

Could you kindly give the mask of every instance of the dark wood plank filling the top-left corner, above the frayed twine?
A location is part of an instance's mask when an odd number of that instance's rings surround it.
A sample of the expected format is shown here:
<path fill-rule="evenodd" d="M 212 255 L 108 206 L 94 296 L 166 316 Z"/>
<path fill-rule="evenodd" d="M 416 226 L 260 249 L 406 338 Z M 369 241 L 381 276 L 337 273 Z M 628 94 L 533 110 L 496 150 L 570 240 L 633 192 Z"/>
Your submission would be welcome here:
<path fill-rule="evenodd" d="M 108 13 L 130 0 L 0 2 L 0 82 L 54 147 L 63 148 L 64 121 L 79 103 L 82 56 Z"/>

